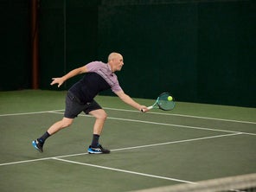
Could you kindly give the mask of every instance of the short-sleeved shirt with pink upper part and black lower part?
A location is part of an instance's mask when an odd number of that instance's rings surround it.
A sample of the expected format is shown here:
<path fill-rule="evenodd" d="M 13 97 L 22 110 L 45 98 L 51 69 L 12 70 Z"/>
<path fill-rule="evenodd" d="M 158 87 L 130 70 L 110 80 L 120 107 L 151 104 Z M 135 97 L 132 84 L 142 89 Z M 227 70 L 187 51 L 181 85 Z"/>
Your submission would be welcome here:
<path fill-rule="evenodd" d="M 80 102 L 91 102 L 99 92 L 107 89 L 112 89 L 112 92 L 122 91 L 118 77 L 112 73 L 109 64 L 93 61 L 86 65 L 86 70 L 84 77 L 69 89 Z"/>

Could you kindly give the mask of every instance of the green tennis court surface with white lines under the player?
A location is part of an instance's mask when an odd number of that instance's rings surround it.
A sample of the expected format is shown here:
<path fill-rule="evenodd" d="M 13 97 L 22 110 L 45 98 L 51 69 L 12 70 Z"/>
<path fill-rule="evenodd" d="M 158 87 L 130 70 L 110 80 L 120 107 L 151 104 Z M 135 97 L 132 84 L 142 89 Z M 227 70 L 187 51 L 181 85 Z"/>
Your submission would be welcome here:
<path fill-rule="evenodd" d="M 86 153 L 94 119 L 85 114 L 39 153 L 31 142 L 62 118 L 65 94 L 0 92 L 1 192 L 131 191 L 256 172 L 256 109 L 235 106 L 176 102 L 170 112 L 142 113 L 98 96 L 110 154 Z"/>

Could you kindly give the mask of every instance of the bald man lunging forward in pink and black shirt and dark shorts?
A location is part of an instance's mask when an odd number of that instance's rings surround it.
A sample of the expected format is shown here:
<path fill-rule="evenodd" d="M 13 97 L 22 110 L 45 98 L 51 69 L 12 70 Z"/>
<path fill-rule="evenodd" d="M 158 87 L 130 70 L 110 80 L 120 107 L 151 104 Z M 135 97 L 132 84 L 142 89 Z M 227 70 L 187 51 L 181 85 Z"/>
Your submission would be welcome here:
<path fill-rule="evenodd" d="M 58 84 L 58 87 L 60 87 L 66 80 L 74 77 L 75 75 L 86 74 L 68 90 L 64 118 L 50 126 L 48 131 L 46 131 L 41 138 L 37 138 L 32 142 L 35 149 L 43 152 L 43 144 L 48 137 L 67 126 L 72 125 L 74 118 L 76 118 L 80 112 L 85 112 L 86 114 L 93 115 L 93 117 L 96 118 L 93 125 L 93 140 L 87 150 L 88 153 L 109 153 L 110 150 L 103 148 L 102 145 L 99 144 L 99 136 L 107 115 L 93 98 L 99 92 L 111 88 L 112 92 L 117 94 L 118 97 L 126 104 L 138 109 L 139 111 L 148 111 L 146 106 L 139 105 L 136 101 L 131 99 L 130 96 L 125 94 L 119 86 L 118 78 L 114 72 L 120 71 L 123 65 L 123 56 L 118 53 L 112 53 L 109 54 L 107 63 L 93 61 L 86 64 L 86 66 L 70 71 L 62 77 L 53 78 L 51 85 Z"/>

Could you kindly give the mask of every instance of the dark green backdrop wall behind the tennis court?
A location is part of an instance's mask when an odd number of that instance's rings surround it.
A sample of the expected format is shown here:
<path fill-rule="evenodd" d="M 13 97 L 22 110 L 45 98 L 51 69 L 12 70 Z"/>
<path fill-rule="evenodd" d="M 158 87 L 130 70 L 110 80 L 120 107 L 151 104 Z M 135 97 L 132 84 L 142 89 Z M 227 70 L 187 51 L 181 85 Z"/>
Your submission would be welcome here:
<path fill-rule="evenodd" d="M 1 2 L 0 89 L 30 88 L 29 2 Z M 52 77 L 117 51 L 125 60 L 118 79 L 132 97 L 169 91 L 179 101 L 256 106 L 255 1 L 39 3 L 42 89 L 55 89 Z"/>

